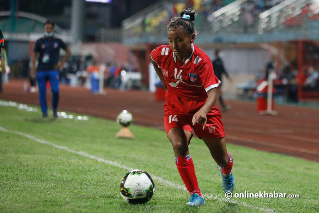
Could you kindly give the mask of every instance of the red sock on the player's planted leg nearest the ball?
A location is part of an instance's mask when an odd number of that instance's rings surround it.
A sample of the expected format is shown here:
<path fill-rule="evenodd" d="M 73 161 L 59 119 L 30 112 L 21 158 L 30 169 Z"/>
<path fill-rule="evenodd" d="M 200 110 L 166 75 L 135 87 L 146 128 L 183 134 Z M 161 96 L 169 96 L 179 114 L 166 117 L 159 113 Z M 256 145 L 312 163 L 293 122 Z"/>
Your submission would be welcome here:
<path fill-rule="evenodd" d="M 196 193 L 199 196 L 202 196 L 197 183 L 193 159 L 190 155 L 175 157 L 175 164 L 187 190 L 189 191 L 189 194 Z"/>

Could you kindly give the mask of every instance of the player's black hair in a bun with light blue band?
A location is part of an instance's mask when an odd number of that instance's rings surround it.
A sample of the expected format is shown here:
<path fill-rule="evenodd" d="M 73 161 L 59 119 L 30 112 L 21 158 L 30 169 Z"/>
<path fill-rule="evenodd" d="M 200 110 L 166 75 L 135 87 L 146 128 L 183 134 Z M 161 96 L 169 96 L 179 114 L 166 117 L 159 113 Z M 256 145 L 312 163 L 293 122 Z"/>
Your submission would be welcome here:
<path fill-rule="evenodd" d="M 180 17 L 175 17 L 170 20 L 167 25 L 167 31 L 175 29 L 176 27 L 182 27 L 189 35 L 193 33 L 197 34 L 194 27 L 195 13 L 196 11 L 191 8 L 183 9 L 180 13 Z"/>

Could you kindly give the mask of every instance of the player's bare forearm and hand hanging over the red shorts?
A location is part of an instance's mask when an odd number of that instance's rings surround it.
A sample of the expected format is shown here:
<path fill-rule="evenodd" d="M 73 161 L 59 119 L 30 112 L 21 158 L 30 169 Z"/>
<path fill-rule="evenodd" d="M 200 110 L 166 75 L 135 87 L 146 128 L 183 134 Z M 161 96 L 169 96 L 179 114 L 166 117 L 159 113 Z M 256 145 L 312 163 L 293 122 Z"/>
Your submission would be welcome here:
<path fill-rule="evenodd" d="M 216 101 L 217 101 L 217 89 L 216 88 L 212 88 L 211 90 L 209 90 L 207 92 L 207 99 L 206 102 L 204 103 L 204 105 L 202 106 L 202 108 L 200 108 L 200 110 L 198 110 L 193 118 L 192 118 L 192 124 L 193 126 L 198 123 L 198 124 L 203 124 L 203 129 L 205 129 L 205 125 L 207 122 L 207 113 L 211 110 L 211 108 L 213 108 L 213 106 L 215 105 Z"/>

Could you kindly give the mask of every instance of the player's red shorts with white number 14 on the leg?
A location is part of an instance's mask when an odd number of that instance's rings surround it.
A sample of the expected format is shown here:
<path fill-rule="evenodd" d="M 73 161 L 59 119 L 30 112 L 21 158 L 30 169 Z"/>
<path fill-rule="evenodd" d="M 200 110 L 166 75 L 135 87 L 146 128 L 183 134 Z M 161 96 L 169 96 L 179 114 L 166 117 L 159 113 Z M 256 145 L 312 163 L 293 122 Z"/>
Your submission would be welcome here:
<path fill-rule="evenodd" d="M 198 138 L 222 138 L 225 137 L 225 131 L 223 122 L 221 120 L 221 114 L 216 113 L 215 110 L 211 110 L 207 113 L 207 123 L 205 129 L 203 130 L 202 124 L 192 124 L 193 114 L 180 114 L 174 113 L 171 110 L 165 109 L 164 125 L 166 134 L 171 128 L 182 128 L 186 131 L 194 133 Z"/>

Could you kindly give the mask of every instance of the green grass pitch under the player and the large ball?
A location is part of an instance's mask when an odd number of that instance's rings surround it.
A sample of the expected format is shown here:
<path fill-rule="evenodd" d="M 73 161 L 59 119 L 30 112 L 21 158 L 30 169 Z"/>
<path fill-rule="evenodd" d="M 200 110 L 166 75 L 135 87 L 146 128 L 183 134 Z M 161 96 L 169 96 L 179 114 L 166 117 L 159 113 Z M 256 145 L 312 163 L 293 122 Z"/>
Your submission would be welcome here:
<path fill-rule="evenodd" d="M 206 203 L 190 207 L 165 131 L 132 125 L 135 139 L 117 139 L 114 121 L 40 116 L 0 106 L 0 212 L 319 212 L 318 163 L 227 144 L 234 193 L 300 194 L 227 200 L 217 165 L 193 138 L 189 153 Z M 119 182 L 129 168 L 156 177 L 150 202 L 130 205 L 121 198 Z"/>

